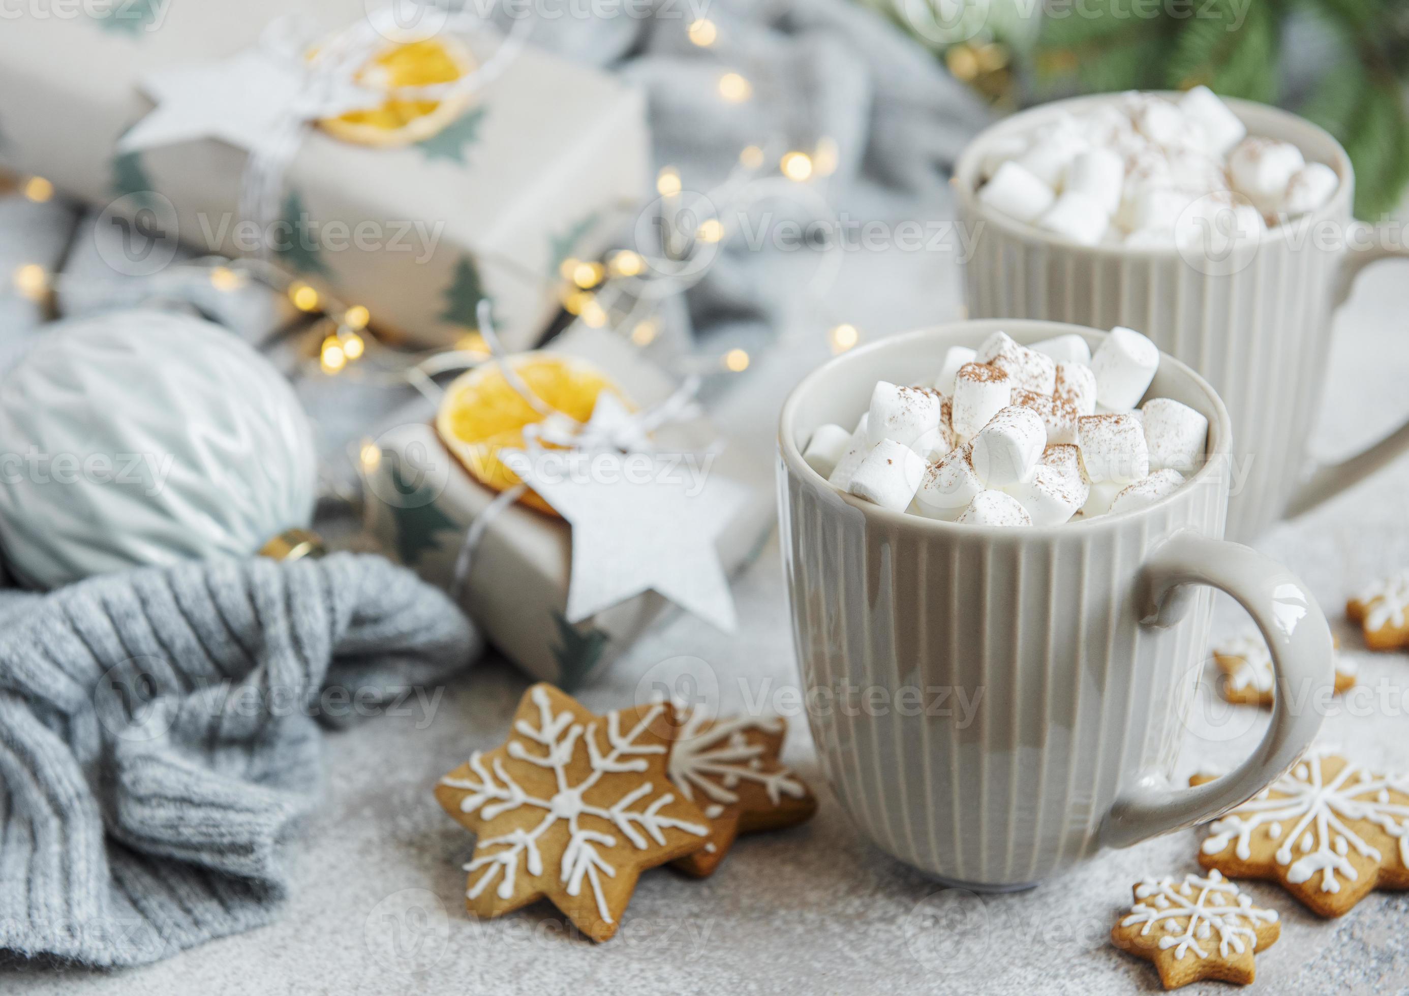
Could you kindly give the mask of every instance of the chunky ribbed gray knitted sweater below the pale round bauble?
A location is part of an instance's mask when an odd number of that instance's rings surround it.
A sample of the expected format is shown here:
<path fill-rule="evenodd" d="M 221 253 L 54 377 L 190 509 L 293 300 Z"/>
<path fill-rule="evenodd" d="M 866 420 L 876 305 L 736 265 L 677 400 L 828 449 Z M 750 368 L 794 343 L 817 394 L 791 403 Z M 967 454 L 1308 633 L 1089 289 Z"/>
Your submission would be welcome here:
<path fill-rule="evenodd" d="M 268 923 L 324 690 L 375 703 L 478 651 L 369 555 L 0 593 L 0 948 L 134 965 Z"/>

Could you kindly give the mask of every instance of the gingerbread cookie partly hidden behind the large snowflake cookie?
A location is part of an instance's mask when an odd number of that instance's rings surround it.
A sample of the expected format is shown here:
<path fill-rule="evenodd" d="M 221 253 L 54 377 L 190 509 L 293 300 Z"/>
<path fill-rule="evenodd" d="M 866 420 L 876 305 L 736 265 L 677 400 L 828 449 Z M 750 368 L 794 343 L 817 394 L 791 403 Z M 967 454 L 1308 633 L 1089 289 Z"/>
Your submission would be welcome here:
<path fill-rule="evenodd" d="M 671 780 L 704 810 L 710 833 L 709 842 L 678 858 L 675 868 L 696 878 L 713 875 L 738 834 L 782 830 L 817 811 L 817 799 L 778 759 L 788 734 L 785 720 L 710 720 L 699 709 L 681 716 Z"/>

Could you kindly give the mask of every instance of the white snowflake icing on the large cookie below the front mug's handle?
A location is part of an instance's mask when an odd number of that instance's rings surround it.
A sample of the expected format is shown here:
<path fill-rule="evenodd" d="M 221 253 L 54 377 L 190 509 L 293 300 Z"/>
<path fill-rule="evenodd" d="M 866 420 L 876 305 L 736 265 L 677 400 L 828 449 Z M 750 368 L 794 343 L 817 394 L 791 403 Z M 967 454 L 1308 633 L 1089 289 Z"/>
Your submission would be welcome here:
<path fill-rule="evenodd" d="M 1354 882 L 1355 866 L 1346 859 L 1350 848 L 1381 861 L 1378 848 L 1346 826 L 1347 820 L 1370 820 L 1399 841 L 1399 858 L 1409 865 L 1409 806 L 1389 802 L 1389 790 L 1409 795 L 1409 779 L 1375 775 L 1347 761 L 1327 783 L 1322 783 L 1322 759 L 1330 752 L 1312 748 L 1288 773 L 1251 802 L 1233 810 L 1210 827 L 1203 854 L 1219 854 L 1236 841 L 1234 854 L 1247 861 L 1253 831 L 1267 826 L 1271 840 L 1282 841 L 1274 854 L 1277 864 L 1291 865 L 1286 880 L 1306 882 L 1322 873 L 1322 892 L 1340 892 L 1340 878 Z M 1284 797 L 1272 799 L 1277 792 Z M 1291 830 L 1284 833 L 1286 826 Z M 1293 851 L 1299 852 L 1295 862 Z"/>

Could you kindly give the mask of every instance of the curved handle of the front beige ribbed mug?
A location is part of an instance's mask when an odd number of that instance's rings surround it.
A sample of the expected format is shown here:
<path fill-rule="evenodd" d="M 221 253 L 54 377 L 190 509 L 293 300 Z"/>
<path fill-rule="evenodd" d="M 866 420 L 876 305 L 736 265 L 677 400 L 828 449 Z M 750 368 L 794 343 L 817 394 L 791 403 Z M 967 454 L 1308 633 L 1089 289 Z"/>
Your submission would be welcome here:
<path fill-rule="evenodd" d="M 1205 823 L 1265 789 L 1320 730 L 1316 710 L 1293 710 L 1291 703 L 1316 702 L 1334 683 L 1330 627 L 1316 599 L 1291 571 L 1248 547 L 1177 533 L 1153 552 L 1137 585 L 1141 624 L 1160 628 L 1188 611 L 1191 585 L 1209 585 L 1237 599 L 1272 652 L 1277 696 L 1262 742 L 1230 773 L 1198 788 L 1171 788 L 1162 773 L 1146 772 L 1122 792 L 1102 824 L 1100 841 L 1107 847 L 1129 847 Z M 1312 697 L 1301 697 L 1308 687 Z"/>

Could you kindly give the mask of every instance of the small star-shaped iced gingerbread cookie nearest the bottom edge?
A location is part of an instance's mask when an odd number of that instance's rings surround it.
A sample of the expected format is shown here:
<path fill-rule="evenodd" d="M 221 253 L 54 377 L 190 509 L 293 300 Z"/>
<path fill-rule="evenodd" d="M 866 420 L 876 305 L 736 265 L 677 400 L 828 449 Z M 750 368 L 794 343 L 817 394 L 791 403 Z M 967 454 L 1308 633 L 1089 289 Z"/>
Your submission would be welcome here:
<path fill-rule="evenodd" d="M 1277 910 L 1253 906 L 1253 897 L 1217 871 L 1146 879 L 1134 888 L 1130 913 L 1110 931 L 1110 942 L 1153 961 L 1165 989 L 1202 979 L 1247 985 L 1257 966 L 1253 954 L 1281 934 Z"/>

